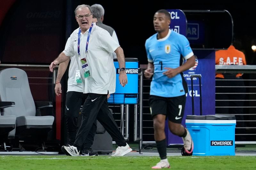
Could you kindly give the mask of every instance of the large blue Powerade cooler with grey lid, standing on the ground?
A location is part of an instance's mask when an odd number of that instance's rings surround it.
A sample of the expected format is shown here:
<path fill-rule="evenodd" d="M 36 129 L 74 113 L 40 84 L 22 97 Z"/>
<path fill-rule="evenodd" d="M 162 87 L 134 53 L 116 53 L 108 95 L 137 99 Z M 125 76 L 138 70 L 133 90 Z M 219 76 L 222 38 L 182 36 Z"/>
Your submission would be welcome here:
<path fill-rule="evenodd" d="M 235 156 L 235 116 L 187 115 L 186 126 L 194 141 L 193 156 Z"/>

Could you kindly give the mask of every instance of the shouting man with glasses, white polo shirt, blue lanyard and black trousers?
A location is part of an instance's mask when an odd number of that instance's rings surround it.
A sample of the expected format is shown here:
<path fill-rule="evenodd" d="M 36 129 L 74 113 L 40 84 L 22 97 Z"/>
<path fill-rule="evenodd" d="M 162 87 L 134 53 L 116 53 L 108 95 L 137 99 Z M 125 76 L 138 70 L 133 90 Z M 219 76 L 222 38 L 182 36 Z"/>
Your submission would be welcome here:
<path fill-rule="evenodd" d="M 61 150 L 66 155 L 79 155 L 80 147 L 93 122 L 98 119 L 118 145 L 113 156 L 123 156 L 131 152 L 132 149 L 126 144 L 108 109 L 107 102 L 107 94 L 114 93 L 116 89 L 116 71 L 112 52 L 116 53 L 119 68 L 122 70 L 119 73 L 120 84 L 124 87 L 128 81 L 123 49 L 106 30 L 92 24 L 92 10 L 89 5 L 77 6 L 75 15 L 79 28 L 70 35 L 70 44 L 67 44 L 65 50 L 51 63 L 49 68 L 50 71 L 53 71 L 57 64 L 75 55 L 83 81 L 84 93 L 88 93 L 88 97 L 82 108 L 82 123 L 74 145 L 62 146 Z"/>

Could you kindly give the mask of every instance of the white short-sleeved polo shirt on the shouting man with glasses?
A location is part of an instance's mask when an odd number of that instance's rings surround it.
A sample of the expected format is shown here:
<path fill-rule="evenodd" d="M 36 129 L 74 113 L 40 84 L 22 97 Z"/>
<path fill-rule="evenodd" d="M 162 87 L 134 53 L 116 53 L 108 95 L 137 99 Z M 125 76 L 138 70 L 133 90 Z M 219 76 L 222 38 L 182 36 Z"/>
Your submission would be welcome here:
<path fill-rule="evenodd" d="M 70 41 L 67 42 L 63 53 L 71 57 L 75 55 L 83 80 L 84 93 L 107 94 L 108 91 L 114 93 L 116 91 L 116 70 L 112 53 L 120 45 L 110 36 L 108 31 L 93 23 L 86 57 L 91 76 L 84 78 L 80 59 L 85 57 L 89 29 L 80 35 L 81 56 L 79 59 L 77 55 L 78 31 L 79 28 L 70 35 Z"/>

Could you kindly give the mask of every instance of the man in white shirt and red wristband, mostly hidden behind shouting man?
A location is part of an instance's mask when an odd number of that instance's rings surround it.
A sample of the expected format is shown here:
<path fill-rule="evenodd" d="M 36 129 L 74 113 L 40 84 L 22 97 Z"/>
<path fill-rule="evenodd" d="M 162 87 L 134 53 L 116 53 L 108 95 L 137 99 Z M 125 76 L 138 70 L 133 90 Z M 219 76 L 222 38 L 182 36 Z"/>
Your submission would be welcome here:
<path fill-rule="evenodd" d="M 97 18 L 96 18 L 97 20 Z M 70 44 L 70 38 L 66 45 Z M 88 94 L 83 93 L 82 79 L 80 70 L 78 68 L 77 60 L 75 57 L 70 57 L 70 65 L 68 69 L 68 90 L 66 94 L 65 102 L 65 121 L 68 133 L 68 143 L 67 146 L 73 145 L 76 139 L 76 132 L 78 129 L 78 116 L 80 113 L 80 107 L 84 104 L 85 99 Z M 55 84 L 55 93 L 57 96 L 60 95 L 61 84 L 60 80 L 67 70 L 69 59 L 63 63 L 60 63 L 58 68 L 58 74 Z M 92 128 L 84 141 L 84 149 L 82 156 L 98 156 L 97 152 L 92 150 L 93 138 L 97 130 L 96 121 L 93 123 Z"/>

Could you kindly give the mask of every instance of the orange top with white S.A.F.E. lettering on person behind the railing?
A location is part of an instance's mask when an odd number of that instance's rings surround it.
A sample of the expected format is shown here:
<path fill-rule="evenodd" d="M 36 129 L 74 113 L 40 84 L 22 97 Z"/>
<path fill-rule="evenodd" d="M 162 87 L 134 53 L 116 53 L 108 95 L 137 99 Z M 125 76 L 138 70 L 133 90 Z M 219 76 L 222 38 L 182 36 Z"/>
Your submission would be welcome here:
<path fill-rule="evenodd" d="M 237 50 L 233 45 L 227 50 L 218 50 L 215 52 L 216 65 L 246 65 L 244 53 Z M 236 77 L 242 76 L 241 73 L 236 74 Z M 221 73 L 217 73 L 215 78 L 224 78 Z"/>

